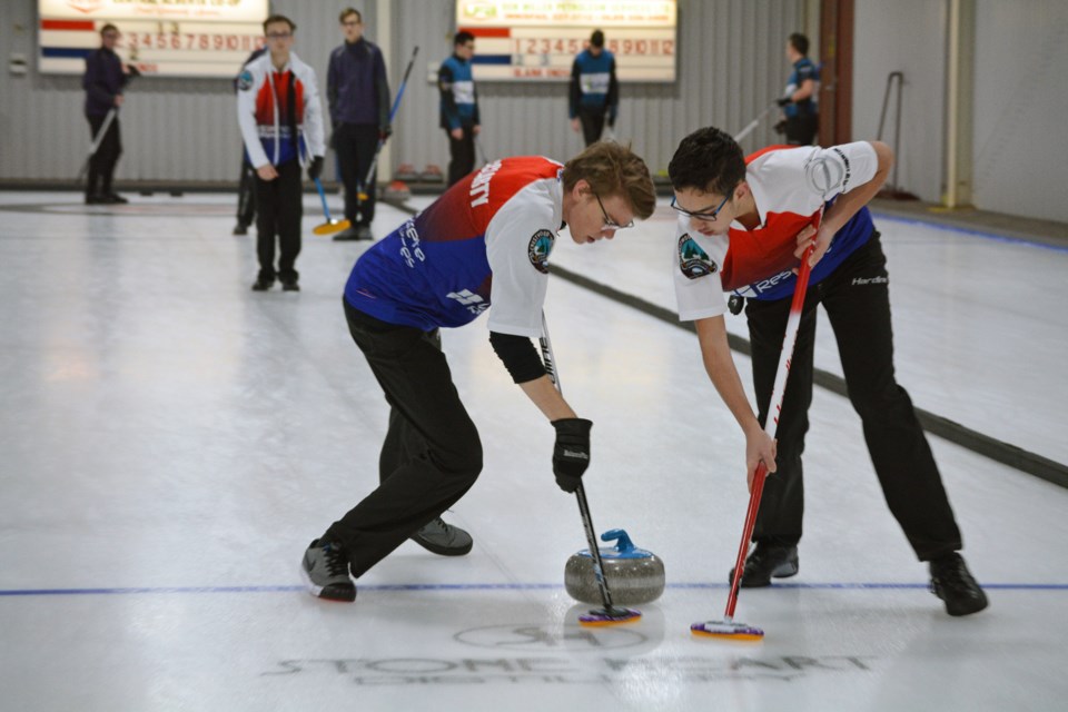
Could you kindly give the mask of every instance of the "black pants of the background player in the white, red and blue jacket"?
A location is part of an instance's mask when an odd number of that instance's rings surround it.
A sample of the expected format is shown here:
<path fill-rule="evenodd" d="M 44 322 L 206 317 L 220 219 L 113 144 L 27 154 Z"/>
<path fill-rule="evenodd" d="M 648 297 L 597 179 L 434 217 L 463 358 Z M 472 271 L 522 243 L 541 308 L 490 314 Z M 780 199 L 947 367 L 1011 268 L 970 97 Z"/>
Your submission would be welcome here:
<path fill-rule="evenodd" d="M 300 254 L 300 161 L 293 159 L 275 166 L 278 177 L 264 180 L 256 176 L 256 254 L 259 274 L 283 281 L 295 281 Z M 278 271 L 275 271 L 275 238 L 278 239 Z"/>

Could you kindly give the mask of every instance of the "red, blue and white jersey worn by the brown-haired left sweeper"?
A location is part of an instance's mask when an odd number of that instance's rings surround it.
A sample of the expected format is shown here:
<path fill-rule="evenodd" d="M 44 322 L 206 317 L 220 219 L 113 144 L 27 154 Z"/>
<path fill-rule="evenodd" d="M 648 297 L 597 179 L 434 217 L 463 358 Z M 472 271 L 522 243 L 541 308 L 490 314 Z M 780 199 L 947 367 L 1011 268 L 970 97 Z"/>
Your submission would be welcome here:
<path fill-rule="evenodd" d="M 563 222 L 563 166 L 505 158 L 453 185 L 356 261 L 345 300 L 390 324 L 541 335 L 548 255 Z"/>

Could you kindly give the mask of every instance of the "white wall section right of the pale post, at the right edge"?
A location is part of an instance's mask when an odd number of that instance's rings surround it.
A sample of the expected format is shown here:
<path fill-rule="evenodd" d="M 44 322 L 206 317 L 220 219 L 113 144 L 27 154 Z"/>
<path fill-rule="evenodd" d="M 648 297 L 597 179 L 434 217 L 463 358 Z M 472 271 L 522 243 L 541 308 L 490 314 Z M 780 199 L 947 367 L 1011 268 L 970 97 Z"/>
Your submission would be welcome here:
<path fill-rule="evenodd" d="M 1068 2 L 976 8 L 975 204 L 1068 222 Z"/>

